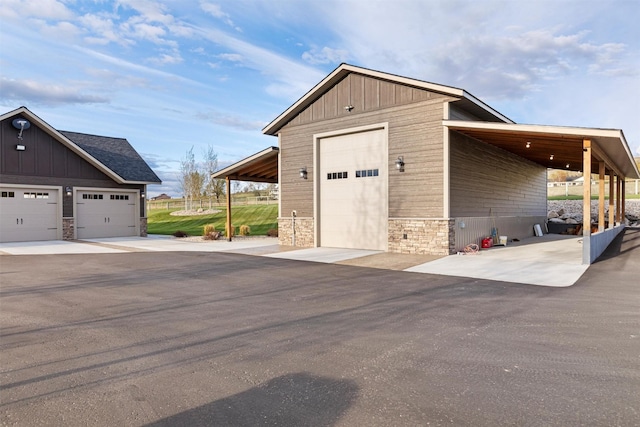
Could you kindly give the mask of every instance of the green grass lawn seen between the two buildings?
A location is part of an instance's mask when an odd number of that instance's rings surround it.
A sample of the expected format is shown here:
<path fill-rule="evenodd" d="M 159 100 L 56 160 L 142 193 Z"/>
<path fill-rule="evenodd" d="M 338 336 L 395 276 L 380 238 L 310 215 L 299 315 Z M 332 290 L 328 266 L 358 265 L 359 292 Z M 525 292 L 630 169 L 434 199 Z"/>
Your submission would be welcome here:
<path fill-rule="evenodd" d="M 227 211 L 220 208 L 214 215 L 171 216 L 174 210 L 151 209 L 148 211 L 149 234 L 173 234 L 184 231 L 190 236 L 201 236 L 204 225 L 213 224 L 216 230 L 224 231 Z M 278 228 L 278 205 L 250 205 L 231 208 L 236 232 L 241 225 L 248 225 L 252 235 L 266 235 L 269 229 Z"/>

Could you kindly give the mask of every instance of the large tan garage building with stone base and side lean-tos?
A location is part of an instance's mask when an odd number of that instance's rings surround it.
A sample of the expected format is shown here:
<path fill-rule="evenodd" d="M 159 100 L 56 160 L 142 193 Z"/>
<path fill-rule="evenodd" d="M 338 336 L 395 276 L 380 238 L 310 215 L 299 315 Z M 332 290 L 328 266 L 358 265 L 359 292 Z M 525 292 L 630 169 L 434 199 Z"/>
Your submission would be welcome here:
<path fill-rule="evenodd" d="M 532 236 L 547 168 L 639 174 L 620 130 L 519 125 L 465 90 L 348 64 L 263 133 L 278 147 L 213 176 L 275 169 L 283 245 L 448 255 L 492 230 Z"/>

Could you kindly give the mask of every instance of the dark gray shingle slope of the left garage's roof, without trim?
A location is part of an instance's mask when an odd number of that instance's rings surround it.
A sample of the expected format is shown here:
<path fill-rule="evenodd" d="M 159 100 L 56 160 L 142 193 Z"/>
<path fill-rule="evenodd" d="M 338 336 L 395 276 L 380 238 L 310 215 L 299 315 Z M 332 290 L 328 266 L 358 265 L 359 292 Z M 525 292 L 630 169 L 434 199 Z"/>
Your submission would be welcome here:
<path fill-rule="evenodd" d="M 124 138 L 59 131 L 125 181 L 162 182 Z"/>

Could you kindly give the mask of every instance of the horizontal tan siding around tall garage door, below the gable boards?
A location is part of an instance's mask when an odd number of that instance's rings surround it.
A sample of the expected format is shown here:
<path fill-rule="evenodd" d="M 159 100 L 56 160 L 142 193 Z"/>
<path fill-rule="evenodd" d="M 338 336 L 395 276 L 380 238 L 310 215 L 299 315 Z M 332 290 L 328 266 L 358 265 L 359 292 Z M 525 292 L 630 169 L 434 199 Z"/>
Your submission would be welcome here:
<path fill-rule="evenodd" d="M 344 82 L 344 80 L 343 80 Z M 341 83 L 343 83 L 341 82 Z M 380 82 L 380 88 L 386 85 Z M 377 85 L 375 85 L 377 86 Z M 366 88 L 373 84 L 364 84 Z M 365 90 L 366 92 L 366 90 Z M 382 92 L 382 91 L 381 91 Z M 380 92 L 380 93 L 381 93 Z M 325 94 L 326 96 L 326 94 Z M 366 96 L 365 96 L 366 99 Z M 313 135 L 376 123 L 389 123 L 389 216 L 441 217 L 443 194 L 442 104 L 448 98 L 432 94 L 429 101 L 357 113 L 302 125 L 288 124 L 281 135 L 281 216 L 296 210 L 298 216 L 313 216 Z M 326 111 L 326 110 L 325 110 Z M 405 172 L 395 160 L 405 158 Z M 309 179 L 298 171 L 306 166 Z"/>

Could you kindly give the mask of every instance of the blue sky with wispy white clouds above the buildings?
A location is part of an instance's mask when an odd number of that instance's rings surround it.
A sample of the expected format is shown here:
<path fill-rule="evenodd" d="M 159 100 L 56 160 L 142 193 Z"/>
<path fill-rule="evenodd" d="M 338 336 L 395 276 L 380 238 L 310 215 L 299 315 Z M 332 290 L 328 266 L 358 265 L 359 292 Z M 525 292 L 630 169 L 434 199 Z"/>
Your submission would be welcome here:
<path fill-rule="evenodd" d="M 342 62 L 459 87 L 518 123 L 622 129 L 640 155 L 640 2 L 3 0 L 0 110 L 125 137 L 180 194 Z"/>

